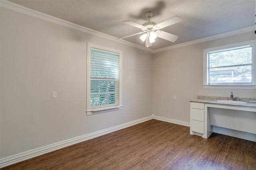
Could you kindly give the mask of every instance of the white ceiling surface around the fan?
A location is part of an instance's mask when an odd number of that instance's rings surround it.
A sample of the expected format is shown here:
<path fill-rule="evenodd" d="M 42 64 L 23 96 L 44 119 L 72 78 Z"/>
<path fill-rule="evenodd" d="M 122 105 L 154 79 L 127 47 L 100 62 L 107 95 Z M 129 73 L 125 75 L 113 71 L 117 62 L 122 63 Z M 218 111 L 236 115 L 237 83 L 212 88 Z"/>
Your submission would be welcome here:
<path fill-rule="evenodd" d="M 9 0 L 62 20 L 114 36 L 125 37 L 141 29 L 122 23 L 160 23 L 173 16 L 183 21 L 161 30 L 178 35 L 174 43 L 161 38 L 150 49 L 160 49 L 255 25 L 255 0 Z M 145 46 L 140 35 L 124 40 Z"/>

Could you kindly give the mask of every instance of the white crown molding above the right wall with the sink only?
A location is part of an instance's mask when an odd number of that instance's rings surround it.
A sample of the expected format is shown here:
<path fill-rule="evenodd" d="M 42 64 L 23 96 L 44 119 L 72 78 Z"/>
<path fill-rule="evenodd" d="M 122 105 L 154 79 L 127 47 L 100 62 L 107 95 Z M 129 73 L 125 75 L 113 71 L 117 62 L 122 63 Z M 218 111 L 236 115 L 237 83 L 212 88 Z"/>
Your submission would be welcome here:
<path fill-rule="evenodd" d="M 229 36 L 232 36 L 232 35 L 247 33 L 247 32 L 254 31 L 254 30 L 256 30 L 255 26 L 245 27 L 245 28 L 237 29 L 237 30 L 230 31 L 230 32 L 227 32 L 227 33 L 221 33 L 221 34 L 218 34 L 218 35 L 213 35 L 211 37 L 206 37 L 206 38 L 197 39 L 197 40 L 194 40 L 194 41 L 188 41 L 186 43 L 181 43 L 181 44 L 172 45 L 172 46 L 169 46 L 169 47 L 164 47 L 164 48 L 161 48 L 161 49 L 156 49 L 156 50 L 154 50 L 153 53 L 157 53 L 157 52 L 160 52 L 160 51 L 166 51 L 166 50 L 174 49 L 174 48 L 178 48 L 178 47 L 184 47 L 184 46 L 187 46 L 187 45 L 203 43 L 203 42 L 206 42 L 206 41 L 210 41 L 210 40 L 214 40 L 214 39 L 220 39 L 220 38 L 224 38 L 224 37 L 229 37 Z"/>

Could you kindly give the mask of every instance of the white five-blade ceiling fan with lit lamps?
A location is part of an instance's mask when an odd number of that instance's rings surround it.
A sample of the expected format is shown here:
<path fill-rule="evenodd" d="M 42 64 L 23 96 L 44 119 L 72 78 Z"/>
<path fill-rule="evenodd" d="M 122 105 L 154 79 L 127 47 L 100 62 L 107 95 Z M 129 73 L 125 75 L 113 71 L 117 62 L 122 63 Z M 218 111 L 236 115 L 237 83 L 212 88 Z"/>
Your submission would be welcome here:
<path fill-rule="evenodd" d="M 155 41 L 156 37 L 160 37 L 162 39 L 166 39 L 171 42 L 175 42 L 178 39 L 177 35 L 173 35 L 171 33 L 167 33 L 165 31 L 160 31 L 159 29 L 162 29 L 164 27 L 167 27 L 169 25 L 172 25 L 174 23 L 178 23 L 182 21 L 182 18 L 179 16 L 174 16 L 172 18 L 169 18 L 166 21 L 163 21 L 161 23 L 156 24 L 155 22 L 150 22 L 150 18 L 152 17 L 153 12 L 147 12 L 146 17 L 148 18 L 148 22 L 143 23 L 142 25 L 135 23 L 133 21 L 123 21 L 123 23 L 126 23 L 128 25 L 132 25 L 134 27 L 140 28 L 142 32 L 133 34 L 133 35 L 138 35 L 141 33 L 144 33 L 142 36 L 140 36 L 141 41 L 146 41 L 146 47 L 152 46 L 152 43 Z M 130 37 L 133 35 L 128 35 L 126 37 Z M 126 37 L 122 37 L 119 39 L 123 39 Z"/>

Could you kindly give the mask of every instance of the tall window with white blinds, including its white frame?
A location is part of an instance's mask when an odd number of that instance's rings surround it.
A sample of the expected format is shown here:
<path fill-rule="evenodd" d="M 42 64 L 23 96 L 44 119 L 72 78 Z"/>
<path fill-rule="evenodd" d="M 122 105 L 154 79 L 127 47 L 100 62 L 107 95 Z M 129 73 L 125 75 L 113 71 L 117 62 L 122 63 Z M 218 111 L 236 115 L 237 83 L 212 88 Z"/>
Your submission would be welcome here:
<path fill-rule="evenodd" d="M 122 51 L 88 43 L 87 115 L 122 109 Z"/>

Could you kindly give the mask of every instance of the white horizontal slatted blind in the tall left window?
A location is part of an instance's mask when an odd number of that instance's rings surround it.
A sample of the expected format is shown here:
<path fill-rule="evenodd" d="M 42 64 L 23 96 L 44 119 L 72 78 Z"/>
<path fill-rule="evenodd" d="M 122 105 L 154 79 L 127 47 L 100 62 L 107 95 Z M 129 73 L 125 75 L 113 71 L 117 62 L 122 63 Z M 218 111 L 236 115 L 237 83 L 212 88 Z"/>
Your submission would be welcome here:
<path fill-rule="evenodd" d="M 119 54 L 91 49 L 90 106 L 118 104 Z"/>

